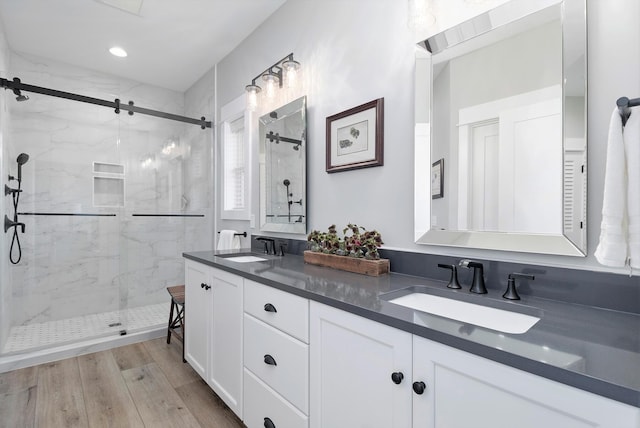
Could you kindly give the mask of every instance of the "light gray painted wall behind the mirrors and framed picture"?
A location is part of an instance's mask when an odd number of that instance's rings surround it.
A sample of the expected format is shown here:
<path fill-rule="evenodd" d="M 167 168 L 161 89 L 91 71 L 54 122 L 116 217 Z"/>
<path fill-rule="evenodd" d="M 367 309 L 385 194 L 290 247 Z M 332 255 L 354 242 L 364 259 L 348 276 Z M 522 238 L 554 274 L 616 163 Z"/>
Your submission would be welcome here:
<path fill-rule="evenodd" d="M 242 94 L 244 86 L 261 70 L 289 52 L 295 53 L 304 68 L 303 85 L 308 96 L 309 230 L 355 222 L 378 229 L 386 247 L 391 249 L 628 273 L 625 269 L 600 266 L 593 252 L 600 233 L 611 111 L 618 97 L 640 96 L 640 27 L 636 22 L 640 2 L 588 0 L 587 3 L 589 255 L 586 258 L 414 243 L 413 58 L 414 43 L 418 40 L 408 29 L 405 1 L 285 3 L 218 64 L 217 105 Z M 435 10 L 436 19 L 441 12 Z M 327 174 L 326 117 L 380 97 L 385 98 L 384 166 Z M 257 216 L 256 180 L 254 176 L 252 211 Z M 248 222 L 217 222 L 217 230 L 225 228 L 250 231 Z"/>

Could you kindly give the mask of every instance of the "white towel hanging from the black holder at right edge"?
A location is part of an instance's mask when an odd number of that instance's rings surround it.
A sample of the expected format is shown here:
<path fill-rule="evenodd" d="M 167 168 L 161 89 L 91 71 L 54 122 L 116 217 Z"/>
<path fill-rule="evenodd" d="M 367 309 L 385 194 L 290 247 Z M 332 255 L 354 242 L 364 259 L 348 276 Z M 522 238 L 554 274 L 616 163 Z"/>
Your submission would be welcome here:
<path fill-rule="evenodd" d="M 605 266 L 640 268 L 640 111 L 624 129 L 618 109 L 611 114 L 595 257 Z"/>

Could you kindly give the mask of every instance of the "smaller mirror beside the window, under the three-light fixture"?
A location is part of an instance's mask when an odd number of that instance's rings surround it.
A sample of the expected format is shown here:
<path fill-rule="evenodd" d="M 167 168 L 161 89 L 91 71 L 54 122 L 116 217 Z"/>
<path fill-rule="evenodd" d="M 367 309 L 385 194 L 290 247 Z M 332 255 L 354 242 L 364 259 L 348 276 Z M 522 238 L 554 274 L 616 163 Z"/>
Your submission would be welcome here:
<path fill-rule="evenodd" d="M 307 99 L 260 117 L 260 230 L 307 233 Z"/>

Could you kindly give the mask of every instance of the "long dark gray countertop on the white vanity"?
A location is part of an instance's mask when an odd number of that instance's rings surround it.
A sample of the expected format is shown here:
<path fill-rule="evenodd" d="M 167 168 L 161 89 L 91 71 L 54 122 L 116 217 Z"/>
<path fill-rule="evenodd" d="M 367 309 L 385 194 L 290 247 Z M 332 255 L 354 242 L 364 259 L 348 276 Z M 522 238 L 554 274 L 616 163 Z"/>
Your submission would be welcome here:
<path fill-rule="evenodd" d="M 246 253 L 244 249 L 238 253 Z M 509 302 L 497 294 L 474 295 L 442 281 L 390 273 L 358 275 L 304 263 L 301 256 L 266 256 L 237 263 L 199 251 L 184 257 L 315 300 L 409 333 L 545 378 L 640 408 L 640 315 L 522 296 Z M 385 297 L 423 286 L 430 294 L 492 307 L 536 308 L 542 316 L 524 334 L 500 333 L 389 303 Z"/>

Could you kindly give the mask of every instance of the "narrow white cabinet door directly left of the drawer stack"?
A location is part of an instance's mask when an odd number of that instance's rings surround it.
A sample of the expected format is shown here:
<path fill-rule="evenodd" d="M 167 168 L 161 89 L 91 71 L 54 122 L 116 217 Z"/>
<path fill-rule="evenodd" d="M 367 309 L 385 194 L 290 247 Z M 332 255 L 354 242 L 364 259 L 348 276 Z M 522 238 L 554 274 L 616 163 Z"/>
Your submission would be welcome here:
<path fill-rule="evenodd" d="M 207 383 L 242 418 L 242 278 L 211 269 L 211 358 Z"/>

